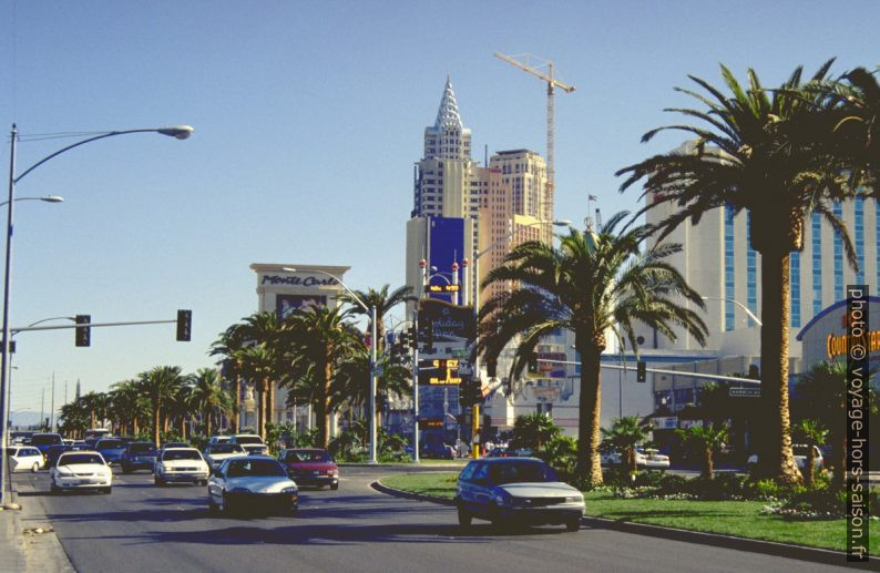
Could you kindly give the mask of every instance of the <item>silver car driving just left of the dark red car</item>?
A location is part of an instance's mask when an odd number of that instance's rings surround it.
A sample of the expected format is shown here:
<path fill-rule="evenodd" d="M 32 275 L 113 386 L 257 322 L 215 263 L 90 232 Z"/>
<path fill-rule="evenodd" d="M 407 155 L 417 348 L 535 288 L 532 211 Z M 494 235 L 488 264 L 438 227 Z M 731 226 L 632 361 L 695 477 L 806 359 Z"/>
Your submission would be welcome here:
<path fill-rule="evenodd" d="M 236 509 L 295 513 L 299 489 L 275 458 L 229 458 L 214 470 L 207 482 L 212 512 Z"/>

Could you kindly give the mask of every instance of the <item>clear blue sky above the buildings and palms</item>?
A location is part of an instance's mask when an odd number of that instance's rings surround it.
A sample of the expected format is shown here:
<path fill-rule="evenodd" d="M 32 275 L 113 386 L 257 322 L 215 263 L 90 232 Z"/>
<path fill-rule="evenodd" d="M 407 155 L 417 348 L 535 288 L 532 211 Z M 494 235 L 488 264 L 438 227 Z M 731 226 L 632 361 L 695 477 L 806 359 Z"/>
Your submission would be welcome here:
<path fill-rule="evenodd" d="M 767 85 L 798 64 L 878 64 L 872 1 L 0 2 L 0 127 L 23 135 L 188 123 L 180 142 L 129 135 L 34 171 L 16 209 L 12 326 L 91 314 L 173 325 L 21 334 L 12 408 L 105 390 L 158 365 L 213 365 L 211 342 L 256 309 L 252 263 L 350 265 L 354 288 L 403 283 L 412 163 L 450 74 L 475 158 L 545 153 L 545 84 L 492 57 L 554 61 L 557 218 L 587 194 L 605 216 L 636 206 L 614 172 L 681 143 L 648 129 L 692 105 L 687 74 L 754 66 Z M 8 131 L 7 131 L 8 133 Z M 18 172 L 75 140 L 22 142 Z M 9 137 L 3 137 L 7 176 Z M 3 187 L 6 188 L 6 187 Z M 47 399 L 48 402 L 48 399 Z M 48 408 L 48 403 L 47 403 Z"/>

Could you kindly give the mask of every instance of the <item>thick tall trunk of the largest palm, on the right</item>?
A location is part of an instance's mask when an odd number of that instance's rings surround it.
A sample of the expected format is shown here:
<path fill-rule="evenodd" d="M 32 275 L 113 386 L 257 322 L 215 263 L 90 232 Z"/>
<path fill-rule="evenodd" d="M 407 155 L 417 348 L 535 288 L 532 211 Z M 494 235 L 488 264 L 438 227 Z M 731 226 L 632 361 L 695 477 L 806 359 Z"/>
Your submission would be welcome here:
<path fill-rule="evenodd" d="M 780 483 L 799 483 L 791 453 L 791 421 L 788 410 L 789 254 L 778 248 L 761 253 L 761 402 L 764 432 L 759 441 L 758 471 Z"/>

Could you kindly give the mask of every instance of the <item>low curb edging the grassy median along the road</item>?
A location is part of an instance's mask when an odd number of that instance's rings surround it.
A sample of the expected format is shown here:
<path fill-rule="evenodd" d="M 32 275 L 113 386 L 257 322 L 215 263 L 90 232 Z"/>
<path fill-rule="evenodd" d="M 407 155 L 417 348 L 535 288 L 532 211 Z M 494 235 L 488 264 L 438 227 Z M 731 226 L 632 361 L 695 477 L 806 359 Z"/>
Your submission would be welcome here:
<path fill-rule="evenodd" d="M 438 503 L 440 505 L 454 507 L 456 502 L 447 498 L 438 498 L 436 495 L 426 495 L 423 493 L 412 493 L 409 491 L 389 488 L 375 481 L 370 487 L 387 495 L 396 498 L 406 498 L 418 501 L 428 501 Z M 753 553 L 764 553 L 766 555 L 774 555 L 779 557 L 797 559 L 800 561 L 809 561 L 811 563 L 823 563 L 827 565 L 838 565 L 852 569 L 862 569 L 867 571 L 880 571 L 880 559 L 877 556 L 870 557 L 864 563 L 850 563 L 847 561 L 847 554 L 840 551 L 832 551 L 818 548 L 805 548 L 802 545 L 791 545 L 788 543 L 779 543 L 776 541 L 753 540 L 746 538 L 736 538 L 733 535 L 724 535 L 720 533 L 706 533 L 702 531 L 682 530 L 676 528 L 666 528 L 663 525 L 649 525 L 646 523 L 635 523 L 632 521 L 616 521 L 605 518 L 585 516 L 582 523 L 595 529 L 610 529 L 621 531 L 624 533 L 634 533 L 636 535 L 649 535 L 653 538 L 668 539 L 673 541 L 683 541 L 686 543 L 699 543 L 702 545 L 712 545 L 715 548 L 734 549 L 739 551 L 749 551 Z"/>

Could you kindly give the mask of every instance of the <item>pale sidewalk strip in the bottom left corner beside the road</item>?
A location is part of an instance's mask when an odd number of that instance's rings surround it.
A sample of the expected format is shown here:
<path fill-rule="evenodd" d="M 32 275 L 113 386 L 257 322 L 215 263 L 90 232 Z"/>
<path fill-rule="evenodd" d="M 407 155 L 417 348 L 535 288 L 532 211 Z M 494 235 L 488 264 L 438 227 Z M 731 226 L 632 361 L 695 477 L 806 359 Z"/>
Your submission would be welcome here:
<path fill-rule="evenodd" d="M 12 480 L 11 490 L 9 501 L 21 510 L 0 511 L 0 571 L 74 572 L 40 498 L 29 495 L 35 492 L 30 480 Z"/>

